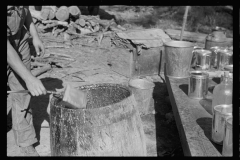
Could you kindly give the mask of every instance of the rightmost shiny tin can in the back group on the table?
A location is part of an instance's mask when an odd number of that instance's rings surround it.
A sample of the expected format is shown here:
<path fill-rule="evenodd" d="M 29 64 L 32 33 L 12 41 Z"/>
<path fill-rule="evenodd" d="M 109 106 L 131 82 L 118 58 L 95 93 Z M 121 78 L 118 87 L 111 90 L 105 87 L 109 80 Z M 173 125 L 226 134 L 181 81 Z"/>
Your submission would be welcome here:
<path fill-rule="evenodd" d="M 220 48 L 217 50 L 217 69 L 218 70 L 224 70 L 224 67 L 226 65 L 233 64 L 232 59 L 233 51 L 227 49 L 227 48 Z"/>

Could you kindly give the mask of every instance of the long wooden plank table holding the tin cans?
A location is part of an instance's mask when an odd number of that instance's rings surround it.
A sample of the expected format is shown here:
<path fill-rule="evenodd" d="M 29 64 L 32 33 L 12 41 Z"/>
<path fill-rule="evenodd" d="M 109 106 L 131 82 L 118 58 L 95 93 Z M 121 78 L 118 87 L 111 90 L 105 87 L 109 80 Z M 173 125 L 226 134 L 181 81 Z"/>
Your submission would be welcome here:
<path fill-rule="evenodd" d="M 188 79 L 171 79 L 165 75 L 171 105 L 185 156 L 221 156 L 222 146 L 211 139 L 212 91 L 207 99 L 190 99 Z M 218 82 L 219 83 L 219 82 Z M 217 83 L 209 79 L 209 88 Z"/>

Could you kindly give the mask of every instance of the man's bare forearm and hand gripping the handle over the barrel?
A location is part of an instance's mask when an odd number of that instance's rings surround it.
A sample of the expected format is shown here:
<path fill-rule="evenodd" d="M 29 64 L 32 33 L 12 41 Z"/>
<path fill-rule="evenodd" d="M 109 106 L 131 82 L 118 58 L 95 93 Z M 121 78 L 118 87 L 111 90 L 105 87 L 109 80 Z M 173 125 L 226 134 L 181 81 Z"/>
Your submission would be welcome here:
<path fill-rule="evenodd" d="M 27 89 L 33 96 L 46 94 L 45 87 L 42 82 L 34 77 L 32 73 L 25 67 L 15 49 L 7 39 L 7 63 L 9 66 L 25 81 Z"/>

